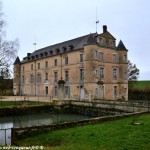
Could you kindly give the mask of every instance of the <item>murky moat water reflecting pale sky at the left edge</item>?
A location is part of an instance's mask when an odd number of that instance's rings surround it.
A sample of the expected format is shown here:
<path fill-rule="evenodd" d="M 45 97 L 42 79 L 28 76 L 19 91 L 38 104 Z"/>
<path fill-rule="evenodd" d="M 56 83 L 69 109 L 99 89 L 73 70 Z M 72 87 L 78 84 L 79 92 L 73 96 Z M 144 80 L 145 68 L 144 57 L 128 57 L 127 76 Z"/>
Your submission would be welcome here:
<path fill-rule="evenodd" d="M 11 145 L 11 128 L 49 125 L 53 123 L 88 119 L 75 114 L 34 114 L 26 116 L 0 117 L 0 145 Z"/>

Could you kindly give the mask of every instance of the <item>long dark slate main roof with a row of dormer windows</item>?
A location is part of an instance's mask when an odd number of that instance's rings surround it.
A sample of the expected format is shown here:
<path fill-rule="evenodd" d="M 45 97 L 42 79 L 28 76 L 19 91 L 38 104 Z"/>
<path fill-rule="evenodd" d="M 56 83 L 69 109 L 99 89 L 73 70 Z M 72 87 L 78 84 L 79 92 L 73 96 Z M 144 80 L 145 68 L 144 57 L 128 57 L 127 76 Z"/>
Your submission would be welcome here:
<path fill-rule="evenodd" d="M 33 61 L 40 59 L 42 57 L 58 55 L 61 53 L 74 51 L 78 49 L 82 49 L 85 44 L 96 44 L 94 37 L 97 33 L 91 33 L 79 38 L 75 38 L 72 40 L 68 40 L 62 43 L 54 44 L 39 50 L 34 51 L 33 53 L 28 53 L 27 57 L 23 58 L 21 63 L 25 63 L 28 61 Z"/>

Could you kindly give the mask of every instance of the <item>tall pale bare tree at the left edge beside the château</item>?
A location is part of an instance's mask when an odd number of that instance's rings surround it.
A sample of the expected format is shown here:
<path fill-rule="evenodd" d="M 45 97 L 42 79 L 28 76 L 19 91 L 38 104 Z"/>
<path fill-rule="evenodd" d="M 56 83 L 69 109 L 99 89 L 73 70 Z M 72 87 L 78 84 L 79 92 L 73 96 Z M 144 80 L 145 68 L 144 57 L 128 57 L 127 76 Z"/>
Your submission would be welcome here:
<path fill-rule="evenodd" d="M 17 55 L 19 42 L 6 40 L 5 32 L 6 21 L 2 9 L 2 2 L 0 1 L 0 77 L 2 79 L 9 78 L 10 68 Z"/>

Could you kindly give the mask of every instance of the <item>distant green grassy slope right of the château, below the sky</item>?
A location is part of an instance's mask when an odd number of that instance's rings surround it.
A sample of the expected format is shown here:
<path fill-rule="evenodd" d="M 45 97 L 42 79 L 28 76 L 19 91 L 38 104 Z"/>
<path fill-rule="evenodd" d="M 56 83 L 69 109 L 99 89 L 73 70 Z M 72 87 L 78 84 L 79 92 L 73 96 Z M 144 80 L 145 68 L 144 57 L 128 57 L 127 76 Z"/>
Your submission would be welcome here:
<path fill-rule="evenodd" d="M 134 89 L 150 89 L 150 81 L 137 81 L 134 83 Z"/>

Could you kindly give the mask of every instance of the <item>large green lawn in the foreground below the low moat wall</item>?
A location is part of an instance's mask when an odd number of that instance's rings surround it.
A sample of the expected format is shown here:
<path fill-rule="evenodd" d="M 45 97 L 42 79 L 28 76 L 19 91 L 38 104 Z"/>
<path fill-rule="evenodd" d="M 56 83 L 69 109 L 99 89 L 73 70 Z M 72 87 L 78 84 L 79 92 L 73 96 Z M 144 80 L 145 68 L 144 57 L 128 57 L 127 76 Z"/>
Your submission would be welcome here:
<path fill-rule="evenodd" d="M 17 141 L 17 144 L 42 145 L 47 150 L 149 150 L 150 114 L 138 117 L 143 125 L 132 125 L 132 119 L 45 132 Z"/>

